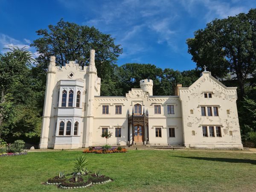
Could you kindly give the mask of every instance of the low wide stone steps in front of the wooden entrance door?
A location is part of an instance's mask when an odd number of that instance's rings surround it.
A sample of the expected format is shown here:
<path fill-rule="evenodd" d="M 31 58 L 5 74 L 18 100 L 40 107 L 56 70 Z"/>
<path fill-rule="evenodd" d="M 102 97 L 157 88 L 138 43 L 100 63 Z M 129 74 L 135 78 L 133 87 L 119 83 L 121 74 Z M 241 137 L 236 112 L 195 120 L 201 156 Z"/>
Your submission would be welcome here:
<path fill-rule="evenodd" d="M 126 145 L 122 146 L 127 150 L 176 150 L 176 149 L 184 149 L 186 148 L 184 145 L 143 145 L 143 144 L 136 144 L 136 145 Z"/>

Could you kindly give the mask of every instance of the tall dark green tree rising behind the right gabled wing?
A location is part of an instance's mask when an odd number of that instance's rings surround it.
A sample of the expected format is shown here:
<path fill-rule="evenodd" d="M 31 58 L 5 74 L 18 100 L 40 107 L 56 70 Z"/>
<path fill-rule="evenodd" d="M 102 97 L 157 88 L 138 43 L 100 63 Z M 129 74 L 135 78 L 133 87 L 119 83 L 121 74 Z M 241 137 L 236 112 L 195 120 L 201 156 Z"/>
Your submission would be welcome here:
<path fill-rule="evenodd" d="M 247 75 L 256 70 L 256 9 L 247 14 L 215 19 L 205 29 L 187 39 L 188 52 L 197 67 L 206 65 L 213 76 L 235 72 L 239 81 L 240 99 L 244 96 Z"/>

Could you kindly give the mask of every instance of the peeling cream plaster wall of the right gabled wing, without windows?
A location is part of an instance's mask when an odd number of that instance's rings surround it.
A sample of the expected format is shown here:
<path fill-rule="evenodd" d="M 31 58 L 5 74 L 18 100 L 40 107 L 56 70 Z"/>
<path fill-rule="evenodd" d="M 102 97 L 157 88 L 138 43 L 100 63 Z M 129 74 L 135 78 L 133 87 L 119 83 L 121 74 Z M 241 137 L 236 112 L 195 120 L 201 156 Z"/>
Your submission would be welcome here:
<path fill-rule="evenodd" d="M 243 148 L 236 107 L 236 87 L 225 87 L 210 72 L 203 72 L 194 84 L 180 88 L 179 93 L 186 147 Z M 212 93 L 212 98 L 204 98 L 204 93 Z M 218 116 L 202 116 L 201 106 L 217 106 Z M 227 110 L 230 114 L 227 114 Z M 202 126 L 207 126 L 208 137 L 203 137 Z M 216 131 L 215 137 L 209 137 L 209 126 L 221 126 L 222 137 L 216 137 Z M 192 131 L 195 131 L 195 135 Z"/>

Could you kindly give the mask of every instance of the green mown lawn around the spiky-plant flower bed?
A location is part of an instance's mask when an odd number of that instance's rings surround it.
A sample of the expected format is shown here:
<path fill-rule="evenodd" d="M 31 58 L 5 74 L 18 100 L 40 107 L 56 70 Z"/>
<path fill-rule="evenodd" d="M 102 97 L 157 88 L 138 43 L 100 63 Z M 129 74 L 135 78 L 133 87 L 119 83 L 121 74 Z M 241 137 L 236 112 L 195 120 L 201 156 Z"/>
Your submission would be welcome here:
<path fill-rule="evenodd" d="M 41 184 L 71 172 L 81 151 L 30 152 L 0 157 L 0 191 L 61 191 Z M 88 169 L 114 181 L 73 191 L 255 191 L 256 154 L 216 151 L 129 151 L 84 154 Z M 70 189 L 71 190 L 71 189 Z"/>

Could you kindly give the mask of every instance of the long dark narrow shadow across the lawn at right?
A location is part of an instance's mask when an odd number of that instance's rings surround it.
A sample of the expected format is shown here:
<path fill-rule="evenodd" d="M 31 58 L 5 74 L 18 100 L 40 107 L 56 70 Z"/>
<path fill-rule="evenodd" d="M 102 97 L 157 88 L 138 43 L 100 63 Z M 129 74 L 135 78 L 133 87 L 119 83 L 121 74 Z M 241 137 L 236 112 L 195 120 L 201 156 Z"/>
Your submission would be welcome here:
<path fill-rule="evenodd" d="M 175 156 L 180 157 L 180 156 Z M 188 159 L 197 159 L 197 160 L 208 160 L 208 161 L 220 161 L 220 162 L 228 162 L 228 163 L 251 163 L 256 165 L 256 160 L 250 159 L 230 159 L 230 158 L 213 158 L 213 157 L 182 157 Z"/>

